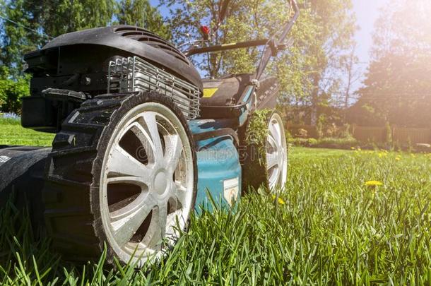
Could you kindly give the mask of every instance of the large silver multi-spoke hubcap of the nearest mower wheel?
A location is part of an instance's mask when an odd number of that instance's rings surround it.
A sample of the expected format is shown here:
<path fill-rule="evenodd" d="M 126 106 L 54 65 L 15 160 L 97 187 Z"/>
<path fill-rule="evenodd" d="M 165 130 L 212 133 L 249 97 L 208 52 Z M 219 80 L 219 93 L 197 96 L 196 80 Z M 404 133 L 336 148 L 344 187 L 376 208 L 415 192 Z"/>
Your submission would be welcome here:
<path fill-rule="evenodd" d="M 105 153 L 100 208 L 107 240 L 124 262 L 157 257 L 187 224 L 194 168 L 187 133 L 148 102 L 117 124 Z"/>

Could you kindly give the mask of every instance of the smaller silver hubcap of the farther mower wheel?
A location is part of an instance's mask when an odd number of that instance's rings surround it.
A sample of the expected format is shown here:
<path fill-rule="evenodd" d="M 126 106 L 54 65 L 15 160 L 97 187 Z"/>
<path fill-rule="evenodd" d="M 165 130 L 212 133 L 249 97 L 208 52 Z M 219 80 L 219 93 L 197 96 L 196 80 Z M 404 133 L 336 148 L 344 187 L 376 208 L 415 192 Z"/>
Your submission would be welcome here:
<path fill-rule="evenodd" d="M 266 138 L 266 168 L 271 191 L 284 186 L 287 180 L 287 167 L 287 144 L 283 121 L 275 113 L 269 121 L 268 136 Z"/>

